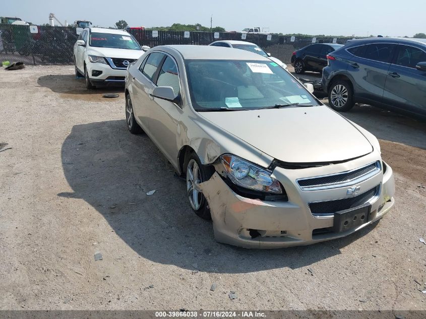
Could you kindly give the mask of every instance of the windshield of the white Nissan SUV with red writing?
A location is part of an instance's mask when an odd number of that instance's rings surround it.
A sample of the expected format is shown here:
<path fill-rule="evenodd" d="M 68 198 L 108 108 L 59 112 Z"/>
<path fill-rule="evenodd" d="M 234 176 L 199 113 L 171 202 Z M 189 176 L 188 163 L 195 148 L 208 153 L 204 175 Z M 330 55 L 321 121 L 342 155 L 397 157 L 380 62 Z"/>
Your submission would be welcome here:
<path fill-rule="evenodd" d="M 138 42 L 130 34 L 92 32 L 89 45 L 101 48 L 141 50 Z"/>

